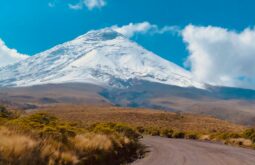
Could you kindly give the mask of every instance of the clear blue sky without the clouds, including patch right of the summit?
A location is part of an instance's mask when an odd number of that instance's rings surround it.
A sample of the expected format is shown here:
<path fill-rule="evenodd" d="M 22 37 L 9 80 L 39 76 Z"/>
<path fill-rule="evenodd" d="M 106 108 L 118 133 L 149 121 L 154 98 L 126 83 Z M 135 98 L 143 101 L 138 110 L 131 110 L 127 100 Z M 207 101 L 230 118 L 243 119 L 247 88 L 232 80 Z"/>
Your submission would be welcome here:
<path fill-rule="evenodd" d="M 159 27 L 187 24 L 243 30 L 255 22 L 252 0 L 106 0 L 102 8 L 72 10 L 78 0 L 8 0 L 0 5 L 0 38 L 24 54 L 35 54 L 91 29 L 148 21 Z M 50 5 L 52 5 L 50 7 Z M 136 35 L 135 41 L 183 65 L 188 53 L 178 35 Z"/>

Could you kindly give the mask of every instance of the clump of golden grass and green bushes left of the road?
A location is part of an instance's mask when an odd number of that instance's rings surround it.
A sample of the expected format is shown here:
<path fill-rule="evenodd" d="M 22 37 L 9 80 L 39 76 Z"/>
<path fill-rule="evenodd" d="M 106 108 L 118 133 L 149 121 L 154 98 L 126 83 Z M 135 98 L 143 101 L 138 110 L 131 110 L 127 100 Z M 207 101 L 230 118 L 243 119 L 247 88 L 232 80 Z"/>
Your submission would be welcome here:
<path fill-rule="evenodd" d="M 143 154 L 140 134 L 123 124 L 83 127 L 48 113 L 18 116 L 4 107 L 0 121 L 0 164 L 118 165 Z"/>

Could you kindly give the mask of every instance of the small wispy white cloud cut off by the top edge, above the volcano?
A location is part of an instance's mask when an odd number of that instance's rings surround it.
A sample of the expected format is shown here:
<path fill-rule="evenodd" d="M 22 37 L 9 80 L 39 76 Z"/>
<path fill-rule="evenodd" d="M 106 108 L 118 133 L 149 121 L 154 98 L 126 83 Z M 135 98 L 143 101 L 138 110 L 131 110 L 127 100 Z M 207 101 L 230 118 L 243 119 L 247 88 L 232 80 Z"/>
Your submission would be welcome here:
<path fill-rule="evenodd" d="M 68 4 L 69 8 L 74 10 L 83 9 L 83 7 L 87 7 L 89 10 L 93 10 L 95 8 L 102 8 L 105 5 L 105 0 L 81 0 L 77 4 Z"/>

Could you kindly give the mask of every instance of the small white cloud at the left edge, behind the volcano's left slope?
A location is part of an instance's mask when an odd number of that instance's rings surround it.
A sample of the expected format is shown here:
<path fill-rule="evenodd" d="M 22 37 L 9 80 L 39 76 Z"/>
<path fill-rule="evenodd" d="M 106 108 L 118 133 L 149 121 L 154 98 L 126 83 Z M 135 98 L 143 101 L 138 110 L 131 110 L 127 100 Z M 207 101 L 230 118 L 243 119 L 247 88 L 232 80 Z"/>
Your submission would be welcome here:
<path fill-rule="evenodd" d="M 20 54 L 15 49 L 8 48 L 0 39 L 0 67 L 24 60 L 27 57 L 27 55 Z"/>

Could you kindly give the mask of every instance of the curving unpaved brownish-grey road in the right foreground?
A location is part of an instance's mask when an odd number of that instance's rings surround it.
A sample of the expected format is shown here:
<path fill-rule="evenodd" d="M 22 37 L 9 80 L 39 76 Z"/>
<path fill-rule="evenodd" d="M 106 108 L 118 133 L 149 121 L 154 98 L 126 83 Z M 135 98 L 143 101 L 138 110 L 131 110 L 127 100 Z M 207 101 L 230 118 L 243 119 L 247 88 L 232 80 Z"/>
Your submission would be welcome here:
<path fill-rule="evenodd" d="M 255 150 L 192 140 L 145 137 L 151 152 L 132 165 L 255 165 Z"/>

